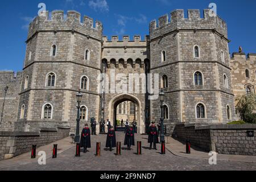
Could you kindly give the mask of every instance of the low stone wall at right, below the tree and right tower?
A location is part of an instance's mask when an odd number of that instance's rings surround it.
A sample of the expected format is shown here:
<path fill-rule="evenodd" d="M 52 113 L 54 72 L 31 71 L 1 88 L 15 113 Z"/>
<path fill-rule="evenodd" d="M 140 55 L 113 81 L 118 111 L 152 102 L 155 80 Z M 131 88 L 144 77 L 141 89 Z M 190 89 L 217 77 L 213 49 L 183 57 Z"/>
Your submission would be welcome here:
<path fill-rule="evenodd" d="M 247 137 L 254 131 L 254 137 Z M 187 139 L 192 146 L 218 154 L 256 155 L 256 125 L 195 125 L 177 124 L 173 137 L 181 142 Z"/>

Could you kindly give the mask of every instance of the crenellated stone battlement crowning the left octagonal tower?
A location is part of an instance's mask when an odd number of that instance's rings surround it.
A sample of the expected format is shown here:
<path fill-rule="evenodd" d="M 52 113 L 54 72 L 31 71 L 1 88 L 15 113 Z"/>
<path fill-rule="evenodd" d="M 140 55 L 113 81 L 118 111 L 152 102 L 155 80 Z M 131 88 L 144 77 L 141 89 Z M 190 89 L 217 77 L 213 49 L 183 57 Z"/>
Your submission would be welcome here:
<path fill-rule="evenodd" d="M 79 32 L 95 39 L 102 39 L 102 23 L 89 16 L 84 16 L 81 21 L 81 14 L 77 11 L 68 11 L 67 15 L 62 10 L 52 11 L 51 16 L 46 11 L 45 16 L 37 16 L 29 25 L 28 39 L 38 31 L 72 31 Z"/>

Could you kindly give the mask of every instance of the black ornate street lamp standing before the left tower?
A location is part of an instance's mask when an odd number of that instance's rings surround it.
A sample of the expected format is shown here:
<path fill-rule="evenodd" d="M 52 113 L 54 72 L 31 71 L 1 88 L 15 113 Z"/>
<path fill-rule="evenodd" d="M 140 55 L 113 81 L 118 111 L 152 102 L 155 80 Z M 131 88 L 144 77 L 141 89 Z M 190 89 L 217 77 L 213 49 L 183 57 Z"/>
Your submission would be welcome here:
<path fill-rule="evenodd" d="M 79 90 L 79 93 L 76 94 L 77 100 L 77 119 L 76 119 L 76 156 L 80 156 L 80 104 L 82 101 L 82 94 Z"/>

